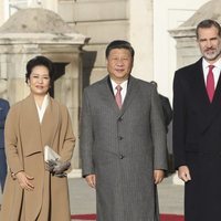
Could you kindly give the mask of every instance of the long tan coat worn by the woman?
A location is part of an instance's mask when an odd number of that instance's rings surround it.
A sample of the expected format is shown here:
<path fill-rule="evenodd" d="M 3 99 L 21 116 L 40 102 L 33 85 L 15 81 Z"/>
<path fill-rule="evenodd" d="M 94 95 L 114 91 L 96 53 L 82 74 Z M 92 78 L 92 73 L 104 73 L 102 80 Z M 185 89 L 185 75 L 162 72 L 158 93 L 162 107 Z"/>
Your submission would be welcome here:
<path fill-rule="evenodd" d="M 43 147 L 49 145 L 62 160 L 70 160 L 74 135 L 67 108 L 50 97 L 40 124 L 32 95 L 11 107 L 6 122 L 6 154 L 9 172 L 4 186 L 0 220 L 70 221 L 67 179 L 45 170 Z M 34 177 L 33 191 L 22 190 L 13 173 Z"/>

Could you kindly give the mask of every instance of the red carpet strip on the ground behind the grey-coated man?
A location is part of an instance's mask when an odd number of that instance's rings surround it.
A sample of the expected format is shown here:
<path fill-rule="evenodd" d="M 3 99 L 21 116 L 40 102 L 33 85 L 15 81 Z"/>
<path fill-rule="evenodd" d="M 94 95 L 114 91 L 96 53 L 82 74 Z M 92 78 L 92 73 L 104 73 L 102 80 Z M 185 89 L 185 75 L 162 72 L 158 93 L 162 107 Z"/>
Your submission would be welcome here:
<path fill-rule="evenodd" d="M 96 220 L 96 214 L 74 214 L 72 220 Z M 178 214 L 160 214 L 160 221 L 185 221 L 183 215 Z"/>

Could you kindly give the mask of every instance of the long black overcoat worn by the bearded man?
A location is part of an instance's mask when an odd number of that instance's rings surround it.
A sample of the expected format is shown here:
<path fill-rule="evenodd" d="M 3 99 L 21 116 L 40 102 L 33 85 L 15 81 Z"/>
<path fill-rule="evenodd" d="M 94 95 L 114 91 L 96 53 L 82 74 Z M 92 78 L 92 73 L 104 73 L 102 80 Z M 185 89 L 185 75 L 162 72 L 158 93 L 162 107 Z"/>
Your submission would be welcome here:
<path fill-rule="evenodd" d="M 188 166 L 191 175 L 185 188 L 185 220 L 220 220 L 221 75 L 210 103 L 202 59 L 175 74 L 172 136 L 175 166 Z"/>

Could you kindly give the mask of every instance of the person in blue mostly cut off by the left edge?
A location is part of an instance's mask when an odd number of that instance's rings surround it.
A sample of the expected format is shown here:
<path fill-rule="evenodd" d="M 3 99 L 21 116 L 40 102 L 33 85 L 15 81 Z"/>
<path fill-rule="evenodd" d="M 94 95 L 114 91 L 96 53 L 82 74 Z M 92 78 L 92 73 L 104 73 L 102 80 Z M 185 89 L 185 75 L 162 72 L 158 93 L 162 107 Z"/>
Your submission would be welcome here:
<path fill-rule="evenodd" d="M 7 160 L 4 154 L 4 122 L 8 112 L 9 112 L 9 102 L 0 98 L 0 183 L 2 192 L 7 176 Z"/>

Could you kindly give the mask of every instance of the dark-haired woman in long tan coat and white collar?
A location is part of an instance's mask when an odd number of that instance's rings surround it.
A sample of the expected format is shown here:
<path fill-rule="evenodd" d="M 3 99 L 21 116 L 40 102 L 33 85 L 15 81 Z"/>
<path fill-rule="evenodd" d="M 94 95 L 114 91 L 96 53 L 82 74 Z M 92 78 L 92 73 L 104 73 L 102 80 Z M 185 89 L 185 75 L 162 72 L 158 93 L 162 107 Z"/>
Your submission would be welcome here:
<path fill-rule="evenodd" d="M 75 138 L 67 108 L 49 95 L 52 82 L 53 66 L 49 59 L 36 56 L 28 62 L 27 83 L 31 93 L 11 107 L 6 122 L 9 172 L 2 221 L 71 220 L 65 171 Z M 61 156 L 50 171 L 44 161 L 45 146 Z M 60 167 L 62 171 L 57 172 Z"/>

